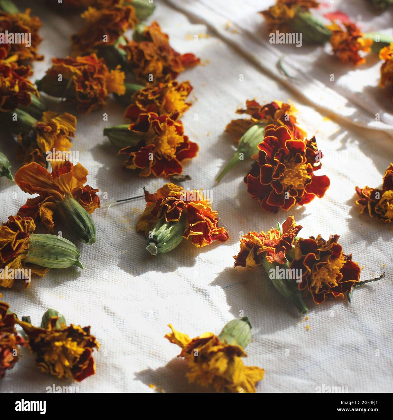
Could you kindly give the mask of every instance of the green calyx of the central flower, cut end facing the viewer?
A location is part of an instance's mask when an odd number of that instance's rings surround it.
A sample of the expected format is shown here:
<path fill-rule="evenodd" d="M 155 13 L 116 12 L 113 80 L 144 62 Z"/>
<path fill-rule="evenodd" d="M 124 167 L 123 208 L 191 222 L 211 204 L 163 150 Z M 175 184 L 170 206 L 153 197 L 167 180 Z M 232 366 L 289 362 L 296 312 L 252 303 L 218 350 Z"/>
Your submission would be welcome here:
<path fill-rule="evenodd" d="M 150 232 L 146 249 L 151 255 L 164 254 L 175 249 L 184 239 L 182 235 L 186 227 L 187 218 L 185 213 L 176 222 L 167 222 L 165 217 L 162 217 Z"/>

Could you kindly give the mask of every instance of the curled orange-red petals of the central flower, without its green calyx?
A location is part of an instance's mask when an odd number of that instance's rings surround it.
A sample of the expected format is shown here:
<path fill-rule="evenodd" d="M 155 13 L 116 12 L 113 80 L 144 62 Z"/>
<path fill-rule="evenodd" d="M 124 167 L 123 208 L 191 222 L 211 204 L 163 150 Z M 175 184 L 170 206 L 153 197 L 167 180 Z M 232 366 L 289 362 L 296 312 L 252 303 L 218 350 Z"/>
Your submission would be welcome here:
<path fill-rule="evenodd" d="M 137 231 L 145 231 L 146 236 L 161 218 L 167 222 L 179 221 L 185 214 L 186 227 L 182 236 L 196 247 L 229 239 L 226 229 L 217 226 L 217 212 L 197 190 L 185 191 L 181 186 L 169 183 L 154 194 L 145 191 L 145 200 L 147 204 L 138 220 Z"/>

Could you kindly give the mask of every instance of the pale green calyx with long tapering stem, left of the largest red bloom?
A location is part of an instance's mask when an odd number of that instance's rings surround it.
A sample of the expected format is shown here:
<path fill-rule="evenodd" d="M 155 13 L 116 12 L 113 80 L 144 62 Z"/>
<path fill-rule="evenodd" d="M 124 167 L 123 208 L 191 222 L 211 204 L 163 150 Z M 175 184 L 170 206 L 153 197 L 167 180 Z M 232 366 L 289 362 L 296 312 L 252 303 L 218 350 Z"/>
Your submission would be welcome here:
<path fill-rule="evenodd" d="M 265 124 L 256 124 L 243 134 L 232 159 L 229 160 L 225 168 L 219 173 L 219 176 L 217 176 L 217 183 L 219 183 L 232 168 L 235 168 L 241 160 L 251 159 L 252 155 L 258 153 L 258 144 L 263 142 L 264 134 Z"/>

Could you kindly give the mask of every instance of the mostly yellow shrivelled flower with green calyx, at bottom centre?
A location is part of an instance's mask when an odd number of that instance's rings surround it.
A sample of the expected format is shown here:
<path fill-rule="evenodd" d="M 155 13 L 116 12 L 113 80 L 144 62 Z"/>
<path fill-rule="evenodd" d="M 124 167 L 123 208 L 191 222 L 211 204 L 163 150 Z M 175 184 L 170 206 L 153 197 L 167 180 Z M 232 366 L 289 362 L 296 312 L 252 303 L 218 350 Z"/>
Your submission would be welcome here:
<path fill-rule="evenodd" d="M 229 336 L 229 331 L 225 333 L 229 324 L 234 323 L 230 329 L 239 339 L 248 327 L 245 324 L 249 324 L 245 318 L 228 323 L 219 336 L 204 333 L 194 339 L 168 325 L 172 332 L 166 334 L 165 338 L 182 349 L 178 357 L 184 357 L 188 363 L 189 372 L 186 375 L 189 382 L 197 382 L 204 387 L 213 385 L 217 392 L 256 392 L 255 384 L 263 379 L 264 369 L 245 366 L 241 359 L 247 357 L 244 348 L 251 338 L 251 332 L 246 341 L 239 340 L 241 344 L 231 340 L 233 336 Z"/>

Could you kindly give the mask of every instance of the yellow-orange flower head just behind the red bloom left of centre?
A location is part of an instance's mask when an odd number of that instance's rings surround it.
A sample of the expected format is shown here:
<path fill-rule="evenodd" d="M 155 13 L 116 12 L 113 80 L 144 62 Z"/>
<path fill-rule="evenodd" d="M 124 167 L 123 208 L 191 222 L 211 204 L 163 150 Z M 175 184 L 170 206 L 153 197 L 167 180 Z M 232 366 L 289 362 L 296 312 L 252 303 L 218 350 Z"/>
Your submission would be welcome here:
<path fill-rule="evenodd" d="M 168 115 L 177 121 L 192 105 L 186 102 L 192 90 L 189 81 L 179 83 L 171 80 L 167 83 L 158 83 L 157 86 L 147 86 L 135 92 L 132 97 L 133 103 L 129 105 L 124 116 L 135 122 L 140 114 L 153 112 L 158 115 Z"/>

